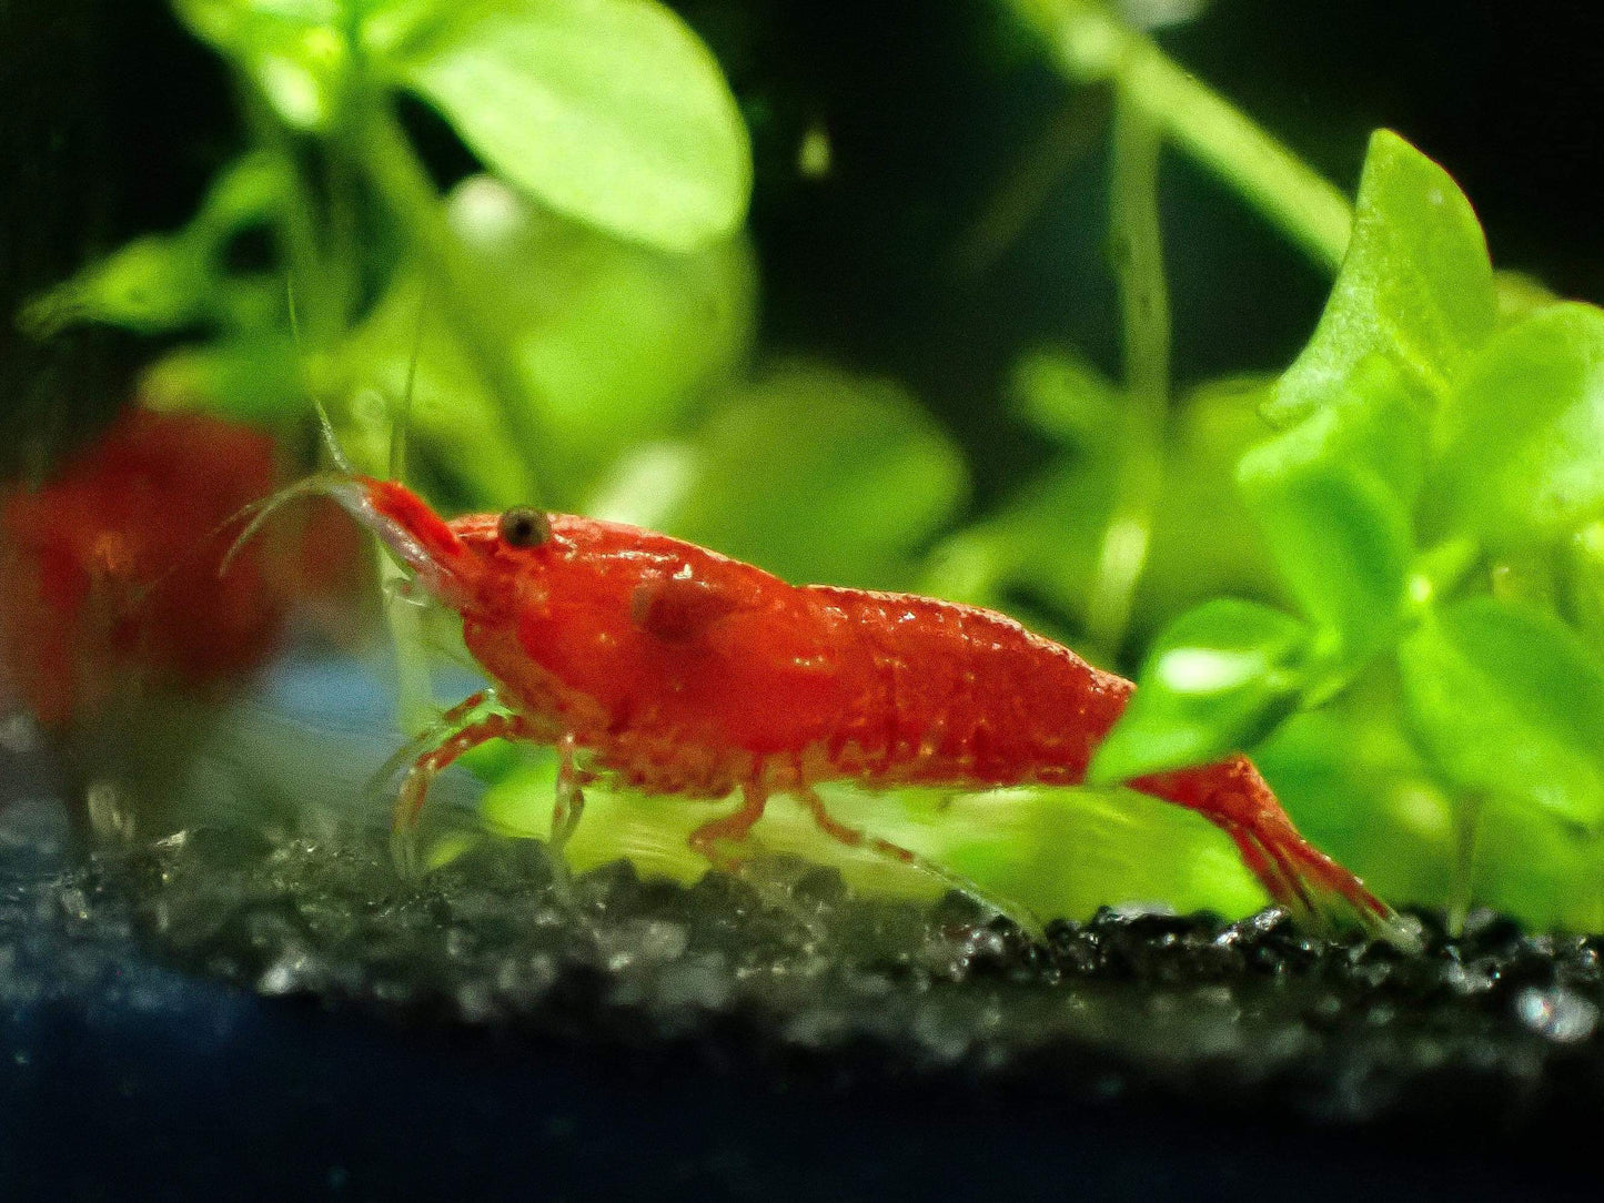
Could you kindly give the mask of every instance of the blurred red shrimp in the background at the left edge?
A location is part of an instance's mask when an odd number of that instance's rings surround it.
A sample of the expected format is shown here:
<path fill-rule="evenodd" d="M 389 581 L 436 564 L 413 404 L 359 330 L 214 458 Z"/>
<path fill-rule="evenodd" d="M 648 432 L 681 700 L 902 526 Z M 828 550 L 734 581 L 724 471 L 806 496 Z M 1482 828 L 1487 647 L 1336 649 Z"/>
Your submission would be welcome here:
<path fill-rule="evenodd" d="M 135 407 L 42 488 L 0 494 L 0 661 L 43 727 L 146 690 L 213 693 L 266 659 L 292 597 L 350 589 L 358 549 L 327 512 L 310 571 L 277 544 L 218 577 L 218 526 L 274 483 L 266 433 Z"/>

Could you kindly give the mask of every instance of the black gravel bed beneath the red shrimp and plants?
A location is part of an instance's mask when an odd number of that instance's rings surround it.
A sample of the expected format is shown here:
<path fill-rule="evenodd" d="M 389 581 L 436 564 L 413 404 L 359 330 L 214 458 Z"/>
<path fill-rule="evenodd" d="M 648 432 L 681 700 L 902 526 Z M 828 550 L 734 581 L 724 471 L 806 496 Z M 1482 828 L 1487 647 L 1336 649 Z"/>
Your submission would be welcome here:
<path fill-rule="evenodd" d="M 420 882 L 385 840 L 191 831 L 55 879 L 67 924 L 127 924 L 159 961 L 407 1025 L 680 1047 L 767 1079 L 962 1081 L 1076 1104 L 1185 1100 L 1320 1123 L 1537 1129 L 1604 1104 L 1596 937 L 1489 913 L 1421 956 L 1327 943 L 1266 911 L 1102 911 L 1044 946 L 959 897 L 755 885 L 553 887 L 537 844 L 488 842 Z"/>

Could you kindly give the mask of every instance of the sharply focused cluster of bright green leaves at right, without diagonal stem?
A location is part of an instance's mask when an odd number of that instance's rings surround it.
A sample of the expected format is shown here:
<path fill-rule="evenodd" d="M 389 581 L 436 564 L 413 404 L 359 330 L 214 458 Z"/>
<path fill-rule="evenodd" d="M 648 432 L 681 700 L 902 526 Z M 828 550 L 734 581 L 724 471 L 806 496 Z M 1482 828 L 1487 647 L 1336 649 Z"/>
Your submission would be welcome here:
<path fill-rule="evenodd" d="M 1593 306 L 1500 311 L 1469 202 L 1378 133 L 1325 314 L 1264 406 L 1280 430 L 1237 467 L 1296 611 L 1221 600 L 1177 618 L 1092 776 L 1256 747 L 1379 675 L 1453 804 L 1456 909 L 1484 805 L 1590 839 L 1604 664 L 1575 602 L 1604 512 L 1601 356 Z"/>

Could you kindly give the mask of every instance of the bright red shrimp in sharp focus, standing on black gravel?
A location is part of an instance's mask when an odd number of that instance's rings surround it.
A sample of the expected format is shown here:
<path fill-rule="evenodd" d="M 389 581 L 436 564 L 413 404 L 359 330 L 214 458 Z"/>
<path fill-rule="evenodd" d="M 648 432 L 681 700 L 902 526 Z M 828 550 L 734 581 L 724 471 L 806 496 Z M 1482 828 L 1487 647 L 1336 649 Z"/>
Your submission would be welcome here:
<path fill-rule="evenodd" d="M 494 706 L 468 698 L 419 749 L 396 802 L 403 834 L 436 773 L 504 738 L 561 752 L 558 849 L 582 784 L 603 775 L 656 794 L 739 796 L 690 837 L 712 865 L 730 866 L 786 792 L 829 837 L 922 866 L 834 820 L 815 788 L 1076 784 L 1134 690 L 988 610 L 791 585 L 669 536 L 525 507 L 446 521 L 404 486 L 359 475 L 295 491 L 338 499 L 456 610 L 494 688 Z M 1408 940 L 1379 898 L 1299 836 L 1245 757 L 1128 784 L 1221 828 L 1302 921 Z"/>

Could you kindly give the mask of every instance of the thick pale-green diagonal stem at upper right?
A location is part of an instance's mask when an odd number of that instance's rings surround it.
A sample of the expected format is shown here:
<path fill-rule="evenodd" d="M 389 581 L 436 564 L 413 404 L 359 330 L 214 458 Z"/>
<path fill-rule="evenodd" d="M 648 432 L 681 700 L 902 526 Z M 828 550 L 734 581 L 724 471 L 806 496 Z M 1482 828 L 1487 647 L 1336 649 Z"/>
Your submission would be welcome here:
<path fill-rule="evenodd" d="M 1014 0 L 1083 83 L 1113 80 L 1176 146 L 1237 189 L 1315 263 L 1336 271 L 1354 209 L 1328 180 L 1099 0 Z"/>

